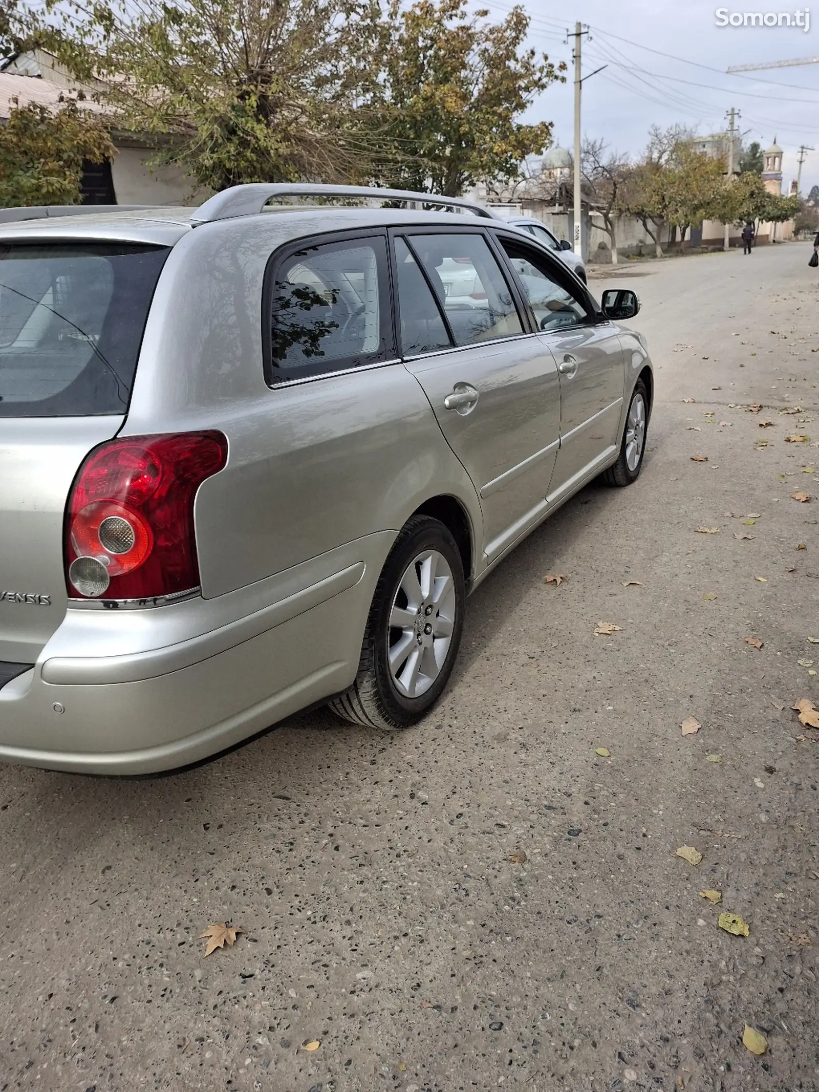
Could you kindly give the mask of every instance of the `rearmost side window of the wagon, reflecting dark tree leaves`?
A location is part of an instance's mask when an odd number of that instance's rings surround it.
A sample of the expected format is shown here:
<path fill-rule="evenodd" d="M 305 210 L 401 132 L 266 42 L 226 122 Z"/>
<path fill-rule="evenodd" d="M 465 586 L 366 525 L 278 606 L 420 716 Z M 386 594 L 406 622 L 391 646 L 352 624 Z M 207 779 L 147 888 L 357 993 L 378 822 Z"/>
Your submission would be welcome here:
<path fill-rule="evenodd" d="M 278 266 L 271 299 L 271 383 L 387 359 L 382 238 L 304 247 Z"/>

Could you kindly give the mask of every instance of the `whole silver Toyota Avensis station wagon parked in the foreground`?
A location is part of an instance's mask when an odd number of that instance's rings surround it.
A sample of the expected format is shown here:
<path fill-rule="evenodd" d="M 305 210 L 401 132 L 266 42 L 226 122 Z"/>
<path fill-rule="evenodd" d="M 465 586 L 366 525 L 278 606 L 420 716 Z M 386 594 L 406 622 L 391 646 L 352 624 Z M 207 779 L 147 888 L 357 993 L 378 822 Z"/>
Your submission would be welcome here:
<path fill-rule="evenodd" d="M 320 702 L 407 727 L 467 594 L 640 474 L 637 297 L 598 305 L 467 201 L 256 185 L 0 221 L 7 761 L 173 769 Z"/>

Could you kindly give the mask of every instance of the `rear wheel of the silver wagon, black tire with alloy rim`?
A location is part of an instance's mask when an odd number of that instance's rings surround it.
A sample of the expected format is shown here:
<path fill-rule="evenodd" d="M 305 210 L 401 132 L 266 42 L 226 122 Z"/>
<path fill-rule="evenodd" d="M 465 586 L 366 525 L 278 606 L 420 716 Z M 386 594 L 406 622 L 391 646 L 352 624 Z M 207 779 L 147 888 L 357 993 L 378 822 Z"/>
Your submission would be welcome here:
<path fill-rule="evenodd" d="M 416 724 L 452 673 L 465 601 L 455 539 L 438 520 L 412 517 L 378 579 L 355 682 L 333 712 L 372 728 Z"/>

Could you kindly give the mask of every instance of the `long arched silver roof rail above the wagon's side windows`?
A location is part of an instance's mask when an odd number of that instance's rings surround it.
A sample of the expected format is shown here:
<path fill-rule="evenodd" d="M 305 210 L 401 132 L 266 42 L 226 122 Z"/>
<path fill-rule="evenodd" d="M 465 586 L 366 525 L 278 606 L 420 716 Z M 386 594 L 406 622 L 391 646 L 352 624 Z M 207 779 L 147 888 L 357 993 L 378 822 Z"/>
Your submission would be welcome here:
<path fill-rule="evenodd" d="M 191 223 L 210 224 L 217 219 L 236 216 L 253 216 L 260 213 L 272 198 L 376 198 L 380 201 L 412 201 L 423 204 L 442 205 L 449 209 L 464 209 L 476 216 L 499 219 L 494 212 L 465 198 L 447 198 L 437 193 L 416 193 L 413 190 L 382 190 L 373 186 L 320 186 L 308 182 L 251 182 L 232 186 L 222 190 L 192 214 Z"/>

